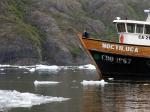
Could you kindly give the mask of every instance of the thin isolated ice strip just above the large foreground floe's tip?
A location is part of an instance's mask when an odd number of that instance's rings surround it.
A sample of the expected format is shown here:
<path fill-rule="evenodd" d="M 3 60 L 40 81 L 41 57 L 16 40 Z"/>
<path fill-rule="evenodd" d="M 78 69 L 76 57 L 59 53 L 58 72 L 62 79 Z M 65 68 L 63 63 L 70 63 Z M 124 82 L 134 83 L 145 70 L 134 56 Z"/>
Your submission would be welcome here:
<path fill-rule="evenodd" d="M 34 81 L 34 85 L 38 86 L 38 85 L 56 85 L 59 84 L 60 82 L 56 82 L 56 81 Z"/>

